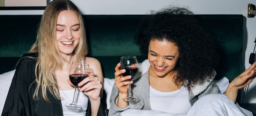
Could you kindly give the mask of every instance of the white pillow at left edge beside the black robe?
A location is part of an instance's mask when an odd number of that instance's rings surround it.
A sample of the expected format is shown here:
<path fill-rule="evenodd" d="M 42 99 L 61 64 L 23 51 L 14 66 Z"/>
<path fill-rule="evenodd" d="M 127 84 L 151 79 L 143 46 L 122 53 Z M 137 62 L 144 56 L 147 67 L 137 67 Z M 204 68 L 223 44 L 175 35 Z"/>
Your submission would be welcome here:
<path fill-rule="evenodd" d="M 15 70 L 0 75 L 0 114 L 2 114 L 5 99 L 12 83 Z"/>

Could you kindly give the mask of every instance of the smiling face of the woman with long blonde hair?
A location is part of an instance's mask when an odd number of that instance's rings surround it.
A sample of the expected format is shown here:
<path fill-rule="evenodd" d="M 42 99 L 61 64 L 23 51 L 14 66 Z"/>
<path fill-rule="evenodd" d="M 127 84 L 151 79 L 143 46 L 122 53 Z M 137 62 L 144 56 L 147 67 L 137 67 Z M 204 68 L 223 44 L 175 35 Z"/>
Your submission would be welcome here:
<path fill-rule="evenodd" d="M 71 54 L 80 39 L 80 23 L 74 11 L 60 12 L 56 25 L 56 40 L 61 53 Z"/>

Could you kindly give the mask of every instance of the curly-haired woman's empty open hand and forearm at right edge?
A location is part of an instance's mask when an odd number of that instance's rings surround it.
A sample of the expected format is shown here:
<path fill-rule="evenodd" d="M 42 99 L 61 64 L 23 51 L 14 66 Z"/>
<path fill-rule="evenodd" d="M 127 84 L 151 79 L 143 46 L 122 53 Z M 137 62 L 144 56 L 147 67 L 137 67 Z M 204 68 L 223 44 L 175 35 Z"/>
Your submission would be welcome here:
<path fill-rule="evenodd" d="M 256 62 L 252 64 L 247 70 L 236 77 L 227 87 L 225 95 L 235 102 L 237 97 L 237 91 L 252 82 L 255 78 L 254 74 L 256 72 Z"/>

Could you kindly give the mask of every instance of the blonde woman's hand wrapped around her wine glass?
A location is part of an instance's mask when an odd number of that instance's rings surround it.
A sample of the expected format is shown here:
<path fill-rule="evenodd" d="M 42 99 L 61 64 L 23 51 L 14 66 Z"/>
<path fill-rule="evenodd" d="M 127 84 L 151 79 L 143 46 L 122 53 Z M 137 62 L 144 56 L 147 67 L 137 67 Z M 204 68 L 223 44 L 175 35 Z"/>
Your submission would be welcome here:
<path fill-rule="evenodd" d="M 93 70 L 92 69 L 86 69 L 84 70 L 85 72 L 89 73 L 89 76 L 85 79 L 83 79 L 79 84 L 78 84 L 78 89 L 80 91 L 83 91 L 85 95 L 87 95 L 89 98 L 93 100 L 100 99 L 99 94 L 100 94 L 100 89 L 102 85 L 100 84 L 100 81 L 98 80 L 97 77 L 94 77 Z M 68 83 L 72 85 L 70 80 L 68 80 Z"/>

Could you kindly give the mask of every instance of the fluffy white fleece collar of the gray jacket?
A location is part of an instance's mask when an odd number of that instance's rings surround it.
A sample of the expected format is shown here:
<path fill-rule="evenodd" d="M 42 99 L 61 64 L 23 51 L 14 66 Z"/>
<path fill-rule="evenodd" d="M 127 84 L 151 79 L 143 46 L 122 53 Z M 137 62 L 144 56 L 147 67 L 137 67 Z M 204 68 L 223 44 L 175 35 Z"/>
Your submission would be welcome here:
<path fill-rule="evenodd" d="M 143 74 L 147 73 L 149 71 L 150 66 L 151 65 L 150 65 L 148 59 L 143 61 L 142 63 L 139 63 L 138 74 L 136 75 L 136 77 L 133 80 L 136 80 L 137 78 L 141 77 Z M 204 78 L 203 83 L 194 82 L 193 87 L 191 87 L 191 92 L 194 95 L 198 95 L 199 93 L 203 92 L 211 84 L 211 82 L 213 81 L 215 76 L 216 76 L 216 71 L 213 70 L 211 75 L 206 76 L 206 78 Z M 209 77 L 211 77 L 211 78 L 209 79 Z"/>

